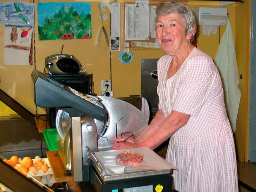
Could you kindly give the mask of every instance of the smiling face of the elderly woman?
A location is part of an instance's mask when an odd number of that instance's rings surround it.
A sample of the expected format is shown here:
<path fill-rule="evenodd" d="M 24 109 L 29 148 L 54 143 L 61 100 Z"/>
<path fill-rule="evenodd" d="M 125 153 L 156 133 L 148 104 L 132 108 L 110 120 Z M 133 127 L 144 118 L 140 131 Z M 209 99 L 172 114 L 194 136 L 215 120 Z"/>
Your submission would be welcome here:
<path fill-rule="evenodd" d="M 172 13 L 158 16 L 156 37 L 166 54 L 178 55 L 185 51 L 188 38 L 185 34 L 185 21 L 179 14 Z"/>

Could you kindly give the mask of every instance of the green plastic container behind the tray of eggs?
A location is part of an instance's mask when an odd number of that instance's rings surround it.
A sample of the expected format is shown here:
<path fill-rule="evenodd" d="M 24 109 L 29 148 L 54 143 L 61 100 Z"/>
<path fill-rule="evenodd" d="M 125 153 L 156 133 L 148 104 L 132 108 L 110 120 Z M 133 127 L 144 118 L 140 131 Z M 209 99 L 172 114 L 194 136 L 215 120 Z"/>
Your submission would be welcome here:
<path fill-rule="evenodd" d="M 57 151 L 58 150 L 58 141 L 60 135 L 58 134 L 56 129 L 46 129 L 43 130 L 44 140 L 48 147 L 49 151 Z"/>

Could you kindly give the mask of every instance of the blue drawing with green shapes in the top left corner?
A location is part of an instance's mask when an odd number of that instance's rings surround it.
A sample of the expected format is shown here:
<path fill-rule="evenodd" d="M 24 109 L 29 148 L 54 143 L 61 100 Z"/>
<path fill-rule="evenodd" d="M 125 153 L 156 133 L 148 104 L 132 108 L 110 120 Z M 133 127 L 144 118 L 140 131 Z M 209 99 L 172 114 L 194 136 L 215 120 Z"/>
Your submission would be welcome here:
<path fill-rule="evenodd" d="M 0 3 L 0 22 L 9 25 L 34 24 L 34 4 L 26 2 Z"/>

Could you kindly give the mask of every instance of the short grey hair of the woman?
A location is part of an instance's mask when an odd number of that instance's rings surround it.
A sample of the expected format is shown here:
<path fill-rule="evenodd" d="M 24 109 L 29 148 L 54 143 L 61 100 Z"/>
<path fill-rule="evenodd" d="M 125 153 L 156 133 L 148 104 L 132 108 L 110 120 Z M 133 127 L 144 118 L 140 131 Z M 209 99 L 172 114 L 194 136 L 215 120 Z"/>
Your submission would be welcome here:
<path fill-rule="evenodd" d="M 162 2 L 156 7 L 156 21 L 159 16 L 166 16 L 171 13 L 176 13 L 182 16 L 185 20 L 186 35 L 192 34 L 191 42 L 194 43 L 194 35 L 196 34 L 196 17 L 192 10 L 181 2 Z M 194 32 L 193 32 L 194 28 Z"/>

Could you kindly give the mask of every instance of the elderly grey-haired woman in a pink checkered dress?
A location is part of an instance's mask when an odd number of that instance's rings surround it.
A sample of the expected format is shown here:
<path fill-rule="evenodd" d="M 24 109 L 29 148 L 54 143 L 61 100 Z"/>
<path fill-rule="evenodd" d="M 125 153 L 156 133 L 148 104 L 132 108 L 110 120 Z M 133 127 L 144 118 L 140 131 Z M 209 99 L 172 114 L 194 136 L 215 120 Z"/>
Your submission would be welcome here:
<path fill-rule="evenodd" d="M 159 110 L 135 140 L 114 139 L 112 149 L 148 146 L 170 138 L 166 160 L 173 164 L 179 192 L 238 191 L 234 138 L 218 69 L 193 44 L 196 18 L 180 2 L 156 9 L 156 36 L 166 53 L 158 60 Z"/>

